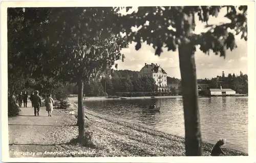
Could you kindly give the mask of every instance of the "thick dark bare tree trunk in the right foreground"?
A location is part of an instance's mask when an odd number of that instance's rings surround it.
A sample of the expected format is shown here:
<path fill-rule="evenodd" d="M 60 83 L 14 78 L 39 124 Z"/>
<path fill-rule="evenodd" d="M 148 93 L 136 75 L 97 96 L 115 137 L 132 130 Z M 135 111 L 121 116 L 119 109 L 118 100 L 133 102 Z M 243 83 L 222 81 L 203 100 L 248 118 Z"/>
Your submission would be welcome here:
<path fill-rule="evenodd" d="M 179 45 L 180 73 L 185 119 L 186 156 L 201 156 L 202 141 L 195 55 L 190 44 Z"/>

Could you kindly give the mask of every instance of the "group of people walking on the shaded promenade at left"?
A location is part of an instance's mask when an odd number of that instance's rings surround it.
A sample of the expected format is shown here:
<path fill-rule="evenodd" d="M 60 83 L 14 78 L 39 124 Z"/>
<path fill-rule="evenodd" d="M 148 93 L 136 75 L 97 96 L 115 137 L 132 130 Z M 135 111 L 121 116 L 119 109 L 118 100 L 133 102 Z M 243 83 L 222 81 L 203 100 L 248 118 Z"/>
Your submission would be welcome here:
<path fill-rule="evenodd" d="M 34 115 L 39 116 L 39 111 L 40 107 L 42 106 L 41 102 L 41 97 L 38 95 L 39 91 L 36 90 L 35 92 L 32 91 L 29 99 L 31 101 L 32 107 L 34 108 Z M 19 107 L 22 107 L 22 102 L 24 103 L 24 107 L 27 107 L 28 103 L 28 94 L 27 91 L 20 92 L 20 94 L 17 96 L 16 102 L 18 103 Z M 46 111 L 48 112 L 48 116 L 52 117 L 52 111 L 53 111 L 53 105 L 54 105 L 54 100 L 51 97 L 51 95 L 47 95 L 45 99 L 45 106 L 46 106 Z"/>

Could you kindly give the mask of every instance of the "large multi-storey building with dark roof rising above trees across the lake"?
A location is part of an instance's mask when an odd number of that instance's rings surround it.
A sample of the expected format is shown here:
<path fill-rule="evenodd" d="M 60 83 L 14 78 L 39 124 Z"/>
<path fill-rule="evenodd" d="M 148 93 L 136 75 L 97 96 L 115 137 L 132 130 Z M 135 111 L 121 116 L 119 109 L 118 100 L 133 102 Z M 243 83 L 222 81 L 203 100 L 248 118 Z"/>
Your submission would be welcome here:
<path fill-rule="evenodd" d="M 160 65 L 145 63 L 139 72 L 139 77 L 143 76 L 149 76 L 155 79 L 159 91 L 167 91 L 167 73 Z"/>

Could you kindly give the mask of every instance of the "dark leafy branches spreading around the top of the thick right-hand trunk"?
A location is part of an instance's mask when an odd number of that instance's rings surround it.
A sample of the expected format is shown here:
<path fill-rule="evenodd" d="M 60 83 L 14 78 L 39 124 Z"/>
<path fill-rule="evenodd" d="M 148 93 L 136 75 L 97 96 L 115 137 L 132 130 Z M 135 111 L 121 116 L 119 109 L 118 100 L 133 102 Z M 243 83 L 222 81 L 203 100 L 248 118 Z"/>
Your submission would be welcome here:
<path fill-rule="evenodd" d="M 205 33 L 193 32 L 196 27 L 195 14 L 200 21 L 208 22 L 209 16 L 217 17 L 222 8 L 227 9 L 225 17 L 231 22 L 220 26 L 208 25 L 210 29 Z M 195 45 L 200 45 L 204 53 L 209 54 L 211 50 L 225 57 L 226 50 L 232 51 L 237 47 L 234 34 L 228 32 L 230 29 L 235 30 L 236 35 L 242 33 L 241 38 L 247 40 L 247 6 L 139 7 L 137 13 L 127 16 L 119 14 L 118 20 L 120 31 L 126 32 L 130 41 L 137 42 L 136 50 L 141 48 L 141 42 L 146 41 L 148 45 L 153 44 L 156 55 L 161 54 L 163 47 L 176 51 L 181 43 L 189 43 L 194 46 L 194 52 Z M 131 25 L 141 28 L 138 32 L 132 32 Z"/>

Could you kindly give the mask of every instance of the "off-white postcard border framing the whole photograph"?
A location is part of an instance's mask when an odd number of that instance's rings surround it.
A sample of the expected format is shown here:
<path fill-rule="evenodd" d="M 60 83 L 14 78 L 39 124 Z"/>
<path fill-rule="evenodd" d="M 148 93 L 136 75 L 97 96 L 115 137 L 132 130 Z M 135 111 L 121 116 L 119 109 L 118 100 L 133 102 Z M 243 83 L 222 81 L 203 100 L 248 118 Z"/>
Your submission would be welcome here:
<path fill-rule="evenodd" d="M 136 5 L 134 5 L 136 4 Z M 225 157 L 55 157 L 10 158 L 8 145 L 8 74 L 7 8 L 8 7 L 99 7 L 99 6 L 204 6 L 248 5 L 248 154 Z M 1 2 L 1 127 L 2 161 L 4 162 L 255 162 L 255 3 L 253 1 L 16 1 Z"/>

